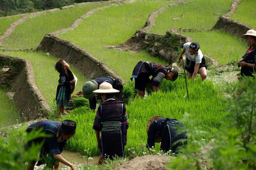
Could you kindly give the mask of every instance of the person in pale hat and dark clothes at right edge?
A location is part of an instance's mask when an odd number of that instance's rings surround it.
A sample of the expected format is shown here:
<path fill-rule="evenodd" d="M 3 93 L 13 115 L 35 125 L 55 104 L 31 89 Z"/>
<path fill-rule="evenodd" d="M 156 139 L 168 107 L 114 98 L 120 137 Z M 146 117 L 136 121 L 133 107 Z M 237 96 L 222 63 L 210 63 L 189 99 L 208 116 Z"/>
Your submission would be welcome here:
<path fill-rule="evenodd" d="M 254 77 L 256 72 L 256 31 L 250 29 L 246 34 L 241 35 L 246 39 L 249 49 L 245 52 L 241 60 L 238 60 L 238 67 L 241 67 L 241 76 Z"/>

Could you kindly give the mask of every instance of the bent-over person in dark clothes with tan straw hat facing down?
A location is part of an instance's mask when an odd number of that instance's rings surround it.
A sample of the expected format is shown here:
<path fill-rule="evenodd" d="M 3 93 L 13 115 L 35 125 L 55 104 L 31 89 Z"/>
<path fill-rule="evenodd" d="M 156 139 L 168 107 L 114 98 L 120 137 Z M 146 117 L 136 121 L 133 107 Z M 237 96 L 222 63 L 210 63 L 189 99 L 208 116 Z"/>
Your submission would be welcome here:
<path fill-rule="evenodd" d="M 176 119 L 161 116 L 151 118 L 147 124 L 147 134 L 148 148 L 155 147 L 155 142 L 161 142 L 162 151 L 171 150 L 172 153 L 178 153 L 179 147 L 187 145 L 186 127 Z"/>

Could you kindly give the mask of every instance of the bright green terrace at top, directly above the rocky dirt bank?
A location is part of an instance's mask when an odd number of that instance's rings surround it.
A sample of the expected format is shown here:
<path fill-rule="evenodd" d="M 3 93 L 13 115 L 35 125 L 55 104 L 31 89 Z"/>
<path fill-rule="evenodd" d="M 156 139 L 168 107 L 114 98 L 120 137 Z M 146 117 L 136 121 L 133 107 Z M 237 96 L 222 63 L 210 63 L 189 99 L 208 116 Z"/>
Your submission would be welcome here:
<path fill-rule="evenodd" d="M 167 30 L 173 28 L 210 29 L 219 16 L 228 13 L 232 1 L 194 0 L 167 8 L 156 17 L 155 27 L 150 32 L 164 35 Z"/>

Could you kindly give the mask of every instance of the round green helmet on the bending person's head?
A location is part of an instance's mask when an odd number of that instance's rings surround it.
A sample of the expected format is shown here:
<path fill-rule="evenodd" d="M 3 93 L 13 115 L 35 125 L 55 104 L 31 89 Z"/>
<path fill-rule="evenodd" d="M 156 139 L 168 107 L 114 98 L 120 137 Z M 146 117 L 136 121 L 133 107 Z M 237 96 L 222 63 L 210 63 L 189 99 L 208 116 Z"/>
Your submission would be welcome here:
<path fill-rule="evenodd" d="M 82 87 L 84 98 L 90 99 L 94 97 L 96 94 L 93 93 L 94 90 L 98 89 L 98 83 L 95 80 L 90 80 L 85 82 Z"/>

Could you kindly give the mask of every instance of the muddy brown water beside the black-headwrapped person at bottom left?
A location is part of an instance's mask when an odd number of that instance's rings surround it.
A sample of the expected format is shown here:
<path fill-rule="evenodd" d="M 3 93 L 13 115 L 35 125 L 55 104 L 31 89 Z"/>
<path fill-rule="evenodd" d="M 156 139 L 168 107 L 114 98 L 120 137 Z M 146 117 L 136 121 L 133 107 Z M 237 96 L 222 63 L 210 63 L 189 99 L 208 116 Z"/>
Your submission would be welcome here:
<path fill-rule="evenodd" d="M 76 166 L 77 169 L 84 169 L 86 165 L 86 159 L 84 159 L 82 154 L 72 151 L 63 151 L 61 154 L 68 162 L 72 163 Z M 97 164 L 99 157 L 92 157 L 93 160 L 88 160 L 88 164 Z M 35 166 L 35 170 L 42 170 L 45 165 Z M 69 166 L 66 166 L 62 163 L 59 164 L 60 170 L 67 170 L 70 169 Z"/>

